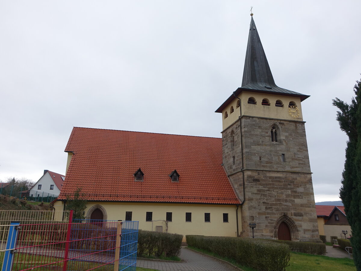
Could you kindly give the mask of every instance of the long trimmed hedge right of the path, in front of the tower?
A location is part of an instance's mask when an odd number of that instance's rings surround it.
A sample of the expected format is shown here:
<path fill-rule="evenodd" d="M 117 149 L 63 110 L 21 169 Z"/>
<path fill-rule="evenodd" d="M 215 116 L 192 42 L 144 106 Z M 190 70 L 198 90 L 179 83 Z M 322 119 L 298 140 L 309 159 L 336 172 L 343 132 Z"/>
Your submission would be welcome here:
<path fill-rule="evenodd" d="M 290 248 L 286 244 L 252 238 L 200 235 L 186 235 L 186 240 L 189 246 L 234 259 L 240 265 L 260 271 L 282 271 L 290 261 Z"/>

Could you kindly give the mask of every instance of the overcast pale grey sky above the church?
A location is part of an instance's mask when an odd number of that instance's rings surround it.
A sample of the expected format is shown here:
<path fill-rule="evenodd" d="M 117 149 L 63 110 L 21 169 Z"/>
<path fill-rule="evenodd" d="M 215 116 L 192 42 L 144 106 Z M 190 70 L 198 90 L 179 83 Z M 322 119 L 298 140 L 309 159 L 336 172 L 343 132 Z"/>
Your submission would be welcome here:
<path fill-rule="evenodd" d="M 0 0 L 0 180 L 64 174 L 73 126 L 221 137 L 249 10 L 302 103 L 316 201 L 338 200 L 347 137 L 331 99 L 361 73 L 361 1 Z"/>

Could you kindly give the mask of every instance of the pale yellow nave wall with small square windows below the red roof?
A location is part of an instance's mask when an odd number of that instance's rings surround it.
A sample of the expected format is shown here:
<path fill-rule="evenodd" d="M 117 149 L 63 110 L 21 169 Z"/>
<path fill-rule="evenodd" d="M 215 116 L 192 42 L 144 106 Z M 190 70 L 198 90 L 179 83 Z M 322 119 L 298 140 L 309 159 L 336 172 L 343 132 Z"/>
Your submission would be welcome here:
<path fill-rule="evenodd" d="M 166 212 L 172 212 L 172 221 L 168 222 L 169 233 L 185 235 L 207 236 L 236 236 L 236 206 L 235 205 L 206 205 L 206 204 L 178 204 L 178 203 L 122 203 L 122 202 L 88 202 L 85 210 L 87 218 L 90 218 L 90 208 L 94 205 L 102 206 L 106 211 L 108 220 L 125 220 L 125 212 L 132 212 L 132 220 L 139 221 L 139 229 L 147 231 L 156 230 L 156 226 L 163 226 Z M 54 204 L 57 211 L 63 210 L 62 202 Z M 153 223 L 145 221 L 146 212 L 153 212 Z M 192 213 L 192 221 L 186 222 L 186 212 Z M 204 213 L 210 213 L 210 222 L 204 222 Z M 223 222 L 223 213 L 228 213 L 228 221 Z M 238 208 L 238 227 L 242 231 L 241 212 Z"/>

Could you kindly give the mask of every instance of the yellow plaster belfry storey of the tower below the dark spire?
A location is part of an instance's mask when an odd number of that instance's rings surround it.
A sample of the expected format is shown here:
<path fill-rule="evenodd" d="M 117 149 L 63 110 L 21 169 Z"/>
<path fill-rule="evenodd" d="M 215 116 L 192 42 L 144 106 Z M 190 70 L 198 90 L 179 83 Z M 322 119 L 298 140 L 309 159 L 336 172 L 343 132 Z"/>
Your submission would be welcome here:
<path fill-rule="evenodd" d="M 253 97 L 256 100 L 256 104 L 248 104 L 248 98 Z M 277 95 L 277 94 L 268 94 L 268 93 L 256 93 L 243 91 L 238 95 L 238 98 L 241 99 L 240 107 L 242 110 L 242 115 L 240 115 L 240 108 L 236 108 L 237 98 L 234 98 L 231 103 L 229 103 L 222 111 L 222 120 L 223 120 L 223 130 L 230 126 L 233 122 L 238 120 L 239 116 L 256 116 L 256 117 L 269 117 L 274 119 L 283 119 L 283 120 L 299 120 L 303 121 L 302 118 L 302 108 L 301 108 L 301 99 L 299 97 Z M 270 106 L 262 106 L 262 100 L 268 99 Z M 276 100 L 281 100 L 283 107 L 275 106 Z M 293 101 L 300 110 L 300 116 L 298 118 L 293 118 L 288 113 L 288 104 Z M 233 106 L 234 112 L 230 113 L 231 106 Z M 225 113 L 227 112 L 228 117 L 225 119 Z"/>

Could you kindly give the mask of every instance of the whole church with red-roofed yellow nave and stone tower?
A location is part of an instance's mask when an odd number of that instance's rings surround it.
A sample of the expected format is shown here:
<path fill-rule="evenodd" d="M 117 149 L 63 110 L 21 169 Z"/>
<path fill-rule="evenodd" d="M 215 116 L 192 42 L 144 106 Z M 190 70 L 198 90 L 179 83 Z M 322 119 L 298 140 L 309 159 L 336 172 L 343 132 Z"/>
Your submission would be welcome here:
<path fill-rule="evenodd" d="M 252 16 L 253 14 L 251 14 Z M 81 188 L 87 219 L 182 235 L 319 241 L 301 102 L 278 87 L 253 17 L 242 86 L 219 106 L 222 138 L 74 127 L 54 204 Z"/>

